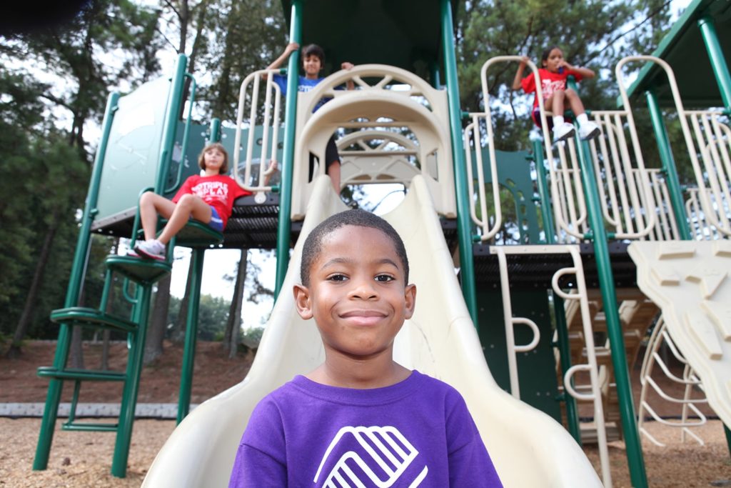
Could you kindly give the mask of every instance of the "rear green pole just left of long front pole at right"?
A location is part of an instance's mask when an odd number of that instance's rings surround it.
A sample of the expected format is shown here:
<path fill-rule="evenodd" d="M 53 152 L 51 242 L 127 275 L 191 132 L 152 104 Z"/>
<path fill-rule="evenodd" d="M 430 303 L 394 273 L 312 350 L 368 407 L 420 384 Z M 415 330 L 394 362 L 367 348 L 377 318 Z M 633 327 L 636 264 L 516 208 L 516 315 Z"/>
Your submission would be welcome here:
<path fill-rule="evenodd" d="M 556 230 L 553 228 L 553 207 L 548 196 L 548 177 L 546 168 L 543 165 L 543 141 L 533 141 L 533 155 L 536 163 L 538 192 L 541 199 L 541 217 L 543 219 L 543 232 L 545 233 L 546 244 L 556 244 Z M 556 335 L 558 335 L 558 352 L 561 354 L 561 378 L 566 378 L 566 372 L 571 367 L 571 344 L 569 343 L 569 329 L 566 325 L 566 310 L 564 299 L 553 293 L 553 316 L 556 318 Z M 573 380 L 572 380 L 573 382 Z M 581 427 L 579 424 L 579 411 L 576 407 L 576 399 L 568 391 L 565 391 L 561 400 L 566 405 L 566 423 L 569 432 L 581 446 Z"/>

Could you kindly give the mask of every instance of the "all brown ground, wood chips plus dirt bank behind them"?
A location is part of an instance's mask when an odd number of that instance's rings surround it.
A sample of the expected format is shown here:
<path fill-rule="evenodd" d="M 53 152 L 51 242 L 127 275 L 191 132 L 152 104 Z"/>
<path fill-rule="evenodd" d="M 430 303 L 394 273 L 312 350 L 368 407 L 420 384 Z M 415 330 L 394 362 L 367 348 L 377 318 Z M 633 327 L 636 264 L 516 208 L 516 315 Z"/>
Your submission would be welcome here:
<path fill-rule="evenodd" d="M 162 358 L 145 368 L 140 383 L 141 403 L 176 402 L 182 347 L 167 344 Z M 35 369 L 53 360 L 53 342 L 29 342 L 22 359 L 0 358 L 0 402 L 43 402 L 48 381 L 37 378 Z M 251 356 L 224 359 L 218 343 L 200 342 L 194 369 L 192 402 L 201 402 L 238 383 L 251 365 Z M 101 348 L 85 345 L 87 367 L 99 364 Z M 125 345 L 113 345 L 111 367 L 121 367 Z M 636 375 L 636 372 L 635 372 Z M 634 383 L 638 383 L 635 381 Z M 108 385 L 107 386 L 108 389 Z M 67 388 L 70 389 L 70 388 Z M 638 394 L 638 393 L 637 393 Z M 635 397 L 637 397 L 637 394 Z M 69 397 L 66 397 L 69 395 Z M 117 402 L 118 391 L 82 391 L 81 402 Z M 64 394 L 64 400 L 70 394 Z M 705 409 L 704 409 L 705 410 Z M 661 415 L 673 416 L 673 410 Z M 0 418 L 0 487 L 138 487 L 157 451 L 173 432 L 175 421 L 137 420 L 129 452 L 127 477 L 111 476 L 114 435 L 99 432 L 56 430 L 48 469 L 32 471 L 39 418 Z M 731 457 L 720 421 L 711 420 L 694 432 L 705 441 L 681 442 L 678 429 L 647 422 L 645 427 L 667 447 L 643 440 L 643 454 L 651 487 L 731 487 Z M 599 471 L 595 446 L 584 451 Z M 610 443 L 614 487 L 629 487 L 624 443 Z"/>

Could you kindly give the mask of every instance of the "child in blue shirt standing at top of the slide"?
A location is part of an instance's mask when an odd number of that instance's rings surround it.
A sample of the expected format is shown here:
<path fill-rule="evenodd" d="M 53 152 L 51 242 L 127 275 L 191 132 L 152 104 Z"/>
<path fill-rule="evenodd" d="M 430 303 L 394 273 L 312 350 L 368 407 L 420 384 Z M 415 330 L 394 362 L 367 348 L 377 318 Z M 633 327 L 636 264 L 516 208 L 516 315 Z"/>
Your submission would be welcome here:
<path fill-rule="evenodd" d="M 284 53 L 273 61 L 267 67 L 267 70 L 276 70 L 284 64 L 289 58 L 289 55 L 298 50 L 300 45 L 297 42 L 289 42 L 287 48 L 284 48 Z M 310 91 L 317 83 L 322 81 L 324 78 L 319 77 L 319 72 L 322 71 L 322 67 L 325 65 L 325 52 L 317 44 L 307 45 L 302 49 L 302 67 L 305 75 L 298 76 L 297 90 L 298 91 Z M 352 70 L 353 64 L 344 62 L 340 65 L 342 70 Z M 281 94 L 287 96 L 287 77 L 281 75 L 274 75 L 274 83 L 279 85 Z M 348 83 L 348 89 L 352 89 L 352 82 Z M 323 98 L 317 102 L 313 112 L 316 112 L 322 105 L 330 100 Z M 314 159 L 310 157 L 310 179 L 314 172 Z M 338 154 L 338 147 L 335 143 L 335 137 L 331 136 L 330 140 L 327 140 L 327 147 L 325 148 L 325 173 L 330 175 L 330 179 L 333 181 L 333 188 L 336 193 L 340 195 L 340 154 Z"/>

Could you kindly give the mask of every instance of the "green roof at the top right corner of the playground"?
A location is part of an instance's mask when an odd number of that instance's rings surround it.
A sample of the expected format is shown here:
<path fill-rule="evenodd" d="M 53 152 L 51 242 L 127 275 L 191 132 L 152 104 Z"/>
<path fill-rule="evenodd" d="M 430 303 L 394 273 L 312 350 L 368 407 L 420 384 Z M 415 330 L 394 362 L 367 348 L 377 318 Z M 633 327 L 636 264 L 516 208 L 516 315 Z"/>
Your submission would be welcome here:
<path fill-rule="evenodd" d="M 694 0 L 652 53 L 653 56 L 667 61 L 673 68 L 678 90 L 686 108 L 724 105 L 698 26 L 698 20 L 706 15 L 713 19 L 721 50 L 726 59 L 729 59 L 731 57 L 730 0 Z M 660 105 L 664 107 L 674 105 L 667 76 L 664 70 L 654 63 L 645 64 L 637 80 L 629 88 L 628 94 L 632 98 L 642 95 L 648 89 L 654 89 Z"/>

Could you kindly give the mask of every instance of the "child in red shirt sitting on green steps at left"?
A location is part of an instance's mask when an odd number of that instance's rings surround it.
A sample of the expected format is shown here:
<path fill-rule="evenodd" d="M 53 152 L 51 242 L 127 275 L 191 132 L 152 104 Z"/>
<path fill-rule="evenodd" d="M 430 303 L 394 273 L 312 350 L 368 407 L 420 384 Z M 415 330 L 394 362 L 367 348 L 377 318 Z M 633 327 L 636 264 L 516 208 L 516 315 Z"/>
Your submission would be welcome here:
<path fill-rule="evenodd" d="M 276 169 L 276 164 L 276 161 L 271 162 L 265 184 L 268 184 L 271 170 Z M 140 221 L 145 241 L 137 241 L 129 255 L 164 260 L 165 245 L 189 219 L 200 220 L 213 230 L 223 232 L 234 201 L 251 195 L 251 192 L 238 186 L 231 176 L 227 176 L 228 153 L 221 143 L 205 146 L 198 157 L 198 165 L 204 175 L 189 176 L 173 200 L 154 192 L 143 193 L 140 198 Z M 162 233 L 155 239 L 158 214 L 168 220 Z"/>

